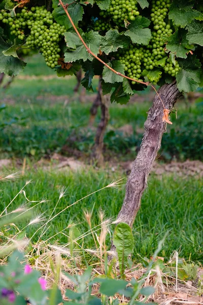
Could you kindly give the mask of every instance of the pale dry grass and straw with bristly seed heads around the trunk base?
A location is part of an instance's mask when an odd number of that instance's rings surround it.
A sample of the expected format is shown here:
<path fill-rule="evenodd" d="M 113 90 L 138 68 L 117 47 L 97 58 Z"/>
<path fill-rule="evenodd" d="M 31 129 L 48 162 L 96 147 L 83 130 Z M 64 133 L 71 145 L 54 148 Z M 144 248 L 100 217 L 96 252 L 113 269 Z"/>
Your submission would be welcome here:
<path fill-rule="evenodd" d="M 2 175 L 2 177 L 4 176 L 5 180 L 8 180 L 11 177 L 18 177 L 18 175 L 19 173 L 7 173 Z M 27 181 L 25 186 L 30 182 L 31 181 Z M 118 188 L 122 183 L 122 179 L 114 180 L 105 188 Z M 88 263 L 88 265 L 92 266 L 92 278 L 106 275 L 106 271 L 108 269 L 110 270 L 108 274 L 109 277 L 120 279 L 120 272 L 116 262 L 114 262 L 114 264 L 107 264 L 108 255 L 116 255 L 115 253 L 112 253 L 112 251 L 108 251 L 108 247 L 106 245 L 107 236 L 108 234 L 110 234 L 110 226 L 115 224 L 116 221 L 115 219 L 106 219 L 105 214 L 102 210 L 98 211 L 99 223 L 96 226 L 93 226 L 91 221 L 92 214 L 94 211 L 84 210 L 84 218 L 89 225 L 89 230 L 81 234 L 80 236 L 74 237 L 74 228 L 77 226 L 77 224 L 71 224 L 60 232 L 56 232 L 47 240 L 43 240 L 43 235 L 45 234 L 46 230 L 50 226 L 51 221 L 55 217 L 57 217 L 67 208 L 70 208 L 71 206 L 77 204 L 82 199 L 91 196 L 95 192 L 99 192 L 105 188 L 96 190 L 92 194 L 81 198 L 73 204 L 67 205 L 64 209 L 54 215 L 55 209 L 60 199 L 66 196 L 66 193 L 68 191 L 67 189 L 62 188 L 59 191 L 58 201 L 48 219 L 46 219 L 44 215 L 34 215 L 32 218 L 29 219 L 28 224 L 24 226 L 24 228 L 19 229 L 17 225 L 15 225 L 15 220 L 22 217 L 23 215 L 26 215 L 26 213 L 30 210 L 32 210 L 33 215 L 35 207 L 38 204 L 45 202 L 45 199 L 41 201 L 30 201 L 26 197 L 24 187 L 18 192 L 15 198 L 22 194 L 27 202 L 7 214 L 7 208 L 12 204 L 13 200 L 15 199 L 14 198 L 7 205 L 7 207 L 4 209 L 0 216 L 0 222 L 5 219 L 5 216 L 13 217 L 13 222 L 10 223 L 9 226 L 6 225 L 4 231 L 2 231 L 0 234 L 0 255 L 3 257 L 0 261 L 1 264 L 7 263 L 7 258 L 13 250 L 18 249 L 20 251 L 24 251 L 26 253 L 25 259 L 30 265 L 32 265 L 33 268 L 36 268 L 41 271 L 42 275 L 46 278 L 48 282 L 48 287 L 52 287 L 54 283 L 57 283 L 63 295 L 66 289 L 75 289 L 74 283 L 66 276 L 66 272 L 72 276 L 82 275 L 82 273 L 86 269 L 85 261 L 86 263 Z M 33 206 L 30 206 L 30 203 L 35 204 Z M 42 225 L 36 230 L 36 233 L 39 232 L 40 235 L 38 241 L 35 244 L 32 243 L 33 236 L 31 238 L 25 237 L 20 240 L 18 239 L 19 234 L 28 226 L 35 226 L 41 223 Z M 15 227 L 17 232 L 13 235 L 7 234 L 10 230 L 10 227 L 12 226 Z M 69 230 L 68 235 L 66 233 L 66 229 Z M 67 242 L 64 243 L 64 245 L 60 245 L 59 243 L 54 243 L 54 245 L 52 245 L 52 243 L 50 243 L 50 240 L 58 234 L 65 234 L 65 236 L 67 237 Z M 85 237 L 88 235 L 92 235 L 92 238 L 94 240 L 94 247 L 92 247 L 91 249 L 88 249 L 85 246 Z M 175 277 L 170 276 L 169 273 L 163 272 L 162 269 L 160 269 L 159 264 L 155 263 L 158 259 L 157 254 L 158 253 L 155 253 L 155 256 L 152 258 L 154 263 L 150 265 L 150 268 L 146 268 L 142 264 L 132 263 L 132 267 L 130 269 L 126 269 L 125 271 L 126 280 L 131 281 L 131 279 L 134 278 L 139 281 L 141 279 L 144 279 L 144 286 L 154 286 L 156 288 L 156 291 L 153 295 L 148 297 L 148 301 L 157 302 L 160 305 L 203 305 L 203 297 L 201 296 L 202 288 L 200 288 L 200 286 L 203 286 L 203 269 L 199 267 L 198 277 L 195 281 L 181 281 L 178 279 L 178 267 L 176 268 Z M 175 259 L 178 264 L 178 253 L 176 252 L 175 255 L 176 256 L 172 259 Z M 202 281 L 202 285 L 197 285 L 198 281 Z M 98 296 L 98 290 L 99 285 L 93 284 L 92 294 Z M 128 299 L 122 297 L 121 295 L 116 295 L 115 297 L 118 298 L 121 303 L 128 302 Z M 140 300 L 144 301 L 144 298 L 141 296 Z"/>

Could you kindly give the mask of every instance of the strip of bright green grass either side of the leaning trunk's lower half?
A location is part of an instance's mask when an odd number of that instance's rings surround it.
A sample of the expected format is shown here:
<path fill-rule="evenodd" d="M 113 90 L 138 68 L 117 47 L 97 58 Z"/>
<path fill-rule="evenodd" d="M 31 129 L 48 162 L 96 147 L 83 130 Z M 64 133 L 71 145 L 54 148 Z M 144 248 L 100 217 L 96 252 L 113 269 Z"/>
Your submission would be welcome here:
<path fill-rule="evenodd" d="M 48 201 L 35 208 L 35 213 L 45 212 L 48 220 L 56 202 L 58 191 L 64 186 L 67 188 L 67 196 L 61 198 L 53 215 L 56 215 L 65 206 L 74 203 L 82 197 L 107 186 L 113 177 L 120 177 L 120 173 L 108 174 L 104 170 L 86 170 L 82 173 L 46 173 L 38 169 L 27 173 L 27 178 L 32 178 L 33 182 L 25 187 L 26 196 L 29 200 L 41 200 L 46 198 Z M 2 185 L 4 190 L 1 192 L 1 210 L 15 197 L 25 184 L 26 179 L 21 178 L 15 182 L 6 182 Z M 202 199 L 203 186 L 201 179 L 181 178 L 175 176 L 163 176 L 162 179 L 156 176 L 149 178 L 148 188 L 143 196 L 142 206 L 133 226 L 134 234 L 134 256 L 137 261 L 141 257 L 150 257 L 157 248 L 158 242 L 163 238 L 167 230 L 169 235 L 164 242 L 160 256 L 169 258 L 173 251 L 178 251 L 181 257 L 192 261 L 202 260 Z M 195 194 L 195 195 L 194 195 Z M 106 217 L 115 219 L 121 208 L 124 197 L 124 187 L 115 190 L 107 188 L 99 191 L 76 205 L 67 208 L 50 223 L 50 228 L 43 236 L 46 240 L 66 228 L 71 222 L 77 223 L 80 234 L 88 230 L 83 209 L 93 208 L 92 226 L 99 223 L 97 212 L 103 209 Z M 25 202 L 23 194 L 20 194 L 8 212 Z M 35 203 L 31 203 L 33 206 Z M 20 225 L 23 227 L 23 224 Z M 113 225 L 111 230 L 113 231 Z M 36 232 L 39 225 L 27 228 L 27 237 Z M 36 234 L 36 241 L 42 230 Z M 64 231 L 69 235 L 69 229 Z M 59 243 L 67 242 L 67 237 L 59 234 L 50 240 L 51 243 L 57 240 Z M 82 242 L 82 240 L 81 240 Z M 89 235 L 84 239 L 85 246 L 92 248 L 94 243 Z"/>

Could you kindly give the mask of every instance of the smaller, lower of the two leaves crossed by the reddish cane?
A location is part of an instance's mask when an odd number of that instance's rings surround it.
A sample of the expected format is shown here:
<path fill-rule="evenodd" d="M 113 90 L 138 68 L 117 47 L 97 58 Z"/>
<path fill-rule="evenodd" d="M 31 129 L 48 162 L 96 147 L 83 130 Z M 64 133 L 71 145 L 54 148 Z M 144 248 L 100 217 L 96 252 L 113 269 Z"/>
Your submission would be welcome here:
<path fill-rule="evenodd" d="M 124 65 L 121 64 L 121 62 L 119 60 L 113 60 L 112 63 L 109 64 L 110 67 L 112 67 L 114 70 L 116 70 L 117 72 L 120 72 L 122 74 L 125 73 L 124 71 Z M 123 81 L 123 77 L 114 73 L 113 71 L 111 71 L 109 68 L 104 67 L 103 70 L 103 79 L 105 82 L 109 82 L 109 83 L 115 83 L 115 82 L 122 82 Z"/>

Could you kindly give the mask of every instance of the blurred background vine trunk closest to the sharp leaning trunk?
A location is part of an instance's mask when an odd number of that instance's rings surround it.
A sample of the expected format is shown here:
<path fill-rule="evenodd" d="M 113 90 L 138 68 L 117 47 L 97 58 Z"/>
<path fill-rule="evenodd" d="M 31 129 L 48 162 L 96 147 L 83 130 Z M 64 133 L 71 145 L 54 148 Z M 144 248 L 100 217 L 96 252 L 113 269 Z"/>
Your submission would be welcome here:
<path fill-rule="evenodd" d="M 107 95 L 103 95 L 100 82 L 98 86 L 98 94 L 100 95 L 101 117 L 96 130 L 93 158 L 98 166 L 102 166 L 104 164 L 104 135 L 109 121 L 109 98 Z"/>

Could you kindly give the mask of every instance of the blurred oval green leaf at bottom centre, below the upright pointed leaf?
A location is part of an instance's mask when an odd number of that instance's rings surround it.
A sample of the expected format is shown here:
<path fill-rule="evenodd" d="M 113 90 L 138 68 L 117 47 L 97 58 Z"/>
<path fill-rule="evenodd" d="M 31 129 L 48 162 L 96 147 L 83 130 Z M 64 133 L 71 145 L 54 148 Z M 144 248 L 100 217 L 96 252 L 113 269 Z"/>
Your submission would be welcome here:
<path fill-rule="evenodd" d="M 123 280 L 106 279 L 105 282 L 101 283 L 99 292 L 107 296 L 113 296 L 120 290 L 125 289 L 126 285 L 127 282 Z"/>

